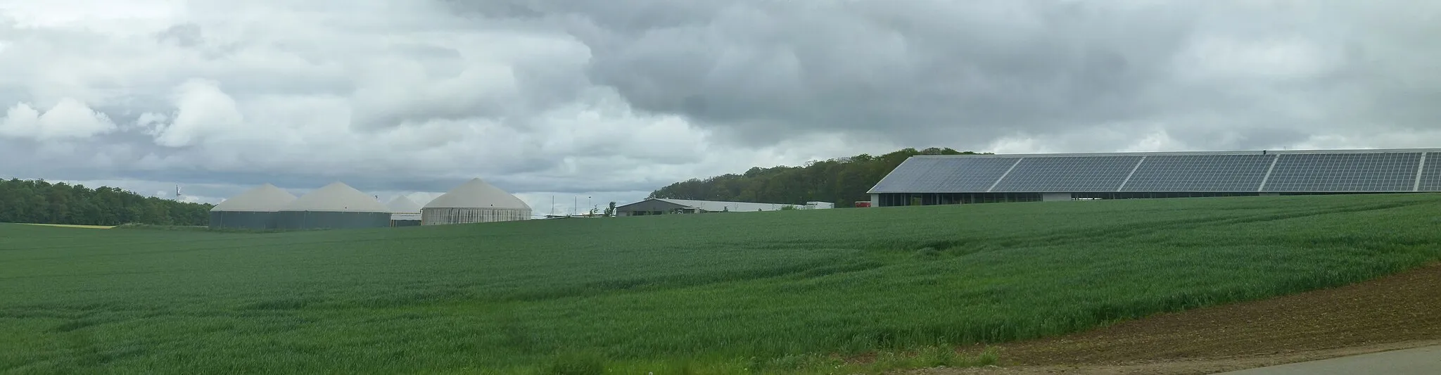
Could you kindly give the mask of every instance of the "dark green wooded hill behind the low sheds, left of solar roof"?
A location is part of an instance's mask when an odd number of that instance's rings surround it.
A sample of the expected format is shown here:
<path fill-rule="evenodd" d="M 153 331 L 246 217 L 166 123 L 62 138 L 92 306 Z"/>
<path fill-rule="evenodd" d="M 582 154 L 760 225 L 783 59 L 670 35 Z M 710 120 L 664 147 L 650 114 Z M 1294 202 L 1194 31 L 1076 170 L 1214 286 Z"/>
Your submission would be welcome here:
<path fill-rule="evenodd" d="M 951 149 L 904 149 L 870 156 L 857 154 L 804 166 L 752 167 L 744 175 L 722 175 L 690 179 L 651 192 L 650 198 L 733 200 L 803 205 L 811 200 L 833 202 L 836 208 L 850 208 L 855 202 L 870 200 L 870 186 L 886 173 L 916 154 L 977 154 Z"/>

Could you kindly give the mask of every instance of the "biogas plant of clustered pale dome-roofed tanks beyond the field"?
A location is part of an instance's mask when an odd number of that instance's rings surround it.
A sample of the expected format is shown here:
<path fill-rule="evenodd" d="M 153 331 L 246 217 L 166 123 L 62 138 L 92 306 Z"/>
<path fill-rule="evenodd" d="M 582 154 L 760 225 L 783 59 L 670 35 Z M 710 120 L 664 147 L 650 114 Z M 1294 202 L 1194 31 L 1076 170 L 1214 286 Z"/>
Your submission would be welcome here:
<path fill-rule="evenodd" d="M 425 206 L 402 196 L 380 203 L 334 182 L 300 198 L 265 183 L 210 209 L 212 229 L 349 229 L 530 219 L 530 206 L 481 179 Z"/>

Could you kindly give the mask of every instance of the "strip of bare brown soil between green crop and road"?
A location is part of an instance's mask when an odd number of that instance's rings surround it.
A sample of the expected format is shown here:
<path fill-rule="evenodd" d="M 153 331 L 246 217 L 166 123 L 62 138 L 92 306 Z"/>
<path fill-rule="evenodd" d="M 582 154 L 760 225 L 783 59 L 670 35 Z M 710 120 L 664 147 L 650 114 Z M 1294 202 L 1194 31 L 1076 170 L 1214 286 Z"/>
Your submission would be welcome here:
<path fill-rule="evenodd" d="M 1215 374 L 1428 345 L 1441 345 L 1441 264 L 1003 345 L 1000 368 L 914 374 Z"/>

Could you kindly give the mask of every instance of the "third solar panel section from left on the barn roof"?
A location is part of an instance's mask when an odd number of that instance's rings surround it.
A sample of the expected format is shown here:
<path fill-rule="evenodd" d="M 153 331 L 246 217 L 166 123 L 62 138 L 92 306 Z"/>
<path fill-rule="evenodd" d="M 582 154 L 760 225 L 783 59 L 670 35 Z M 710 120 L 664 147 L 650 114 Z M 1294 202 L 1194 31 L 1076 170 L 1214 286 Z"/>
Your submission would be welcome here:
<path fill-rule="evenodd" d="M 1255 192 L 1275 154 L 1147 156 L 1123 192 Z"/>

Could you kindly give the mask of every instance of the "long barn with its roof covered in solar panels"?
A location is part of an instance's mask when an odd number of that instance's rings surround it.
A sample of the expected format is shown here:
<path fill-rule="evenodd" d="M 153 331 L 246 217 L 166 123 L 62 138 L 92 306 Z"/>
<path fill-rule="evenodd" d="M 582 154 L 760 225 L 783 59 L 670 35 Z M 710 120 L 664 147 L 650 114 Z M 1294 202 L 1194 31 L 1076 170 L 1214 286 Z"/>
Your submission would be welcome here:
<path fill-rule="evenodd" d="M 1441 192 L 1441 149 L 914 156 L 869 190 L 875 206 L 1396 192 Z"/>

